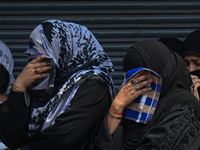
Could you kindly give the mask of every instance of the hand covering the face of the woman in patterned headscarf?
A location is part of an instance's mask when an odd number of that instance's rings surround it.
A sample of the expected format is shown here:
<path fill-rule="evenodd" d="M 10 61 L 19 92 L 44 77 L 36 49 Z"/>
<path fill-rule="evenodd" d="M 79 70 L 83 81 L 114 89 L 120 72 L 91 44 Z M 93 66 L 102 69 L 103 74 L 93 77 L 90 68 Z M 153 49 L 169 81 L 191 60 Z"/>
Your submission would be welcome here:
<path fill-rule="evenodd" d="M 50 63 L 40 62 L 44 58 L 45 55 L 42 55 L 29 62 L 17 77 L 13 85 L 20 91 L 25 92 L 26 88 L 29 87 L 36 79 L 48 77 L 50 73 L 43 72 L 50 70 L 51 66 Z M 36 69 L 38 69 L 38 72 Z M 14 88 L 12 89 L 16 91 Z"/>

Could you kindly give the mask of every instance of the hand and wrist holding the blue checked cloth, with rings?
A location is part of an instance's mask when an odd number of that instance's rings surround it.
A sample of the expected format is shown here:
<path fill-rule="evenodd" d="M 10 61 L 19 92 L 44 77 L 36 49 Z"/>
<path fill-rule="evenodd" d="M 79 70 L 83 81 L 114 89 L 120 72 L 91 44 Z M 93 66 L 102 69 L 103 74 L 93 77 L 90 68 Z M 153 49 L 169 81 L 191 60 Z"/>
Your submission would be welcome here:
<path fill-rule="evenodd" d="M 124 108 L 133 102 L 138 96 L 143 95 L 146 92 L 151 91 L 151 88 L 143 88 L 149 83 L 153 82 L 153 79 L 148 79 L 151 77 L 151 74 L 147 74 L 144 71 L 136 74 L 133 78 L 131 78 L 119 91 L 114 101 L 112 102 L 111 109 L 117 112 L 118 114 L 122 114 Z M 132 83 L 132 81 L 135 83 Z M 146 80 L 147 79 L 147 80 Z M 137 89 L 135 86 L 139 85 L 140 89 Z M 112 115 L 108 114 L 107 116 L 107 126 L 110 134 L 112 135 L 117 129 L 121 119 L 117 119 Z"/>

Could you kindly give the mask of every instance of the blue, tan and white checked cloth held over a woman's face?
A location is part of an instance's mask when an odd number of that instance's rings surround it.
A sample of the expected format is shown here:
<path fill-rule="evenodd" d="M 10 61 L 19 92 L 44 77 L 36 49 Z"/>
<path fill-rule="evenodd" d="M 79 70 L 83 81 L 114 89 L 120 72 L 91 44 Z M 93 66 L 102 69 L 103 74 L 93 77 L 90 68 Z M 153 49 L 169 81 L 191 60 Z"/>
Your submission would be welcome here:
<path fill-rule="evenodd" d="M 145 70 L 145 72 L 150 72 L 152 74 L 154 82 L 146 86 L 146 87 L 151 87 L 152 90 L 150 92 L 147 92 L 139 96 L 130 105 L 128 105 L 124 109 L 123 116 L 126 119 L 147 124 L 148 121 L 152 119 L 159 100 L 161 86 L 162 86 L 161 76 L 156 72 L 154 72 L 153 70 L 147 68 L 143 67 L 135 68 L 127 71 L 122 86 L 125 83 L 127 83 L 127 81 L 129 81 L 134 75 L 136 75 L 142 70 Z"/>

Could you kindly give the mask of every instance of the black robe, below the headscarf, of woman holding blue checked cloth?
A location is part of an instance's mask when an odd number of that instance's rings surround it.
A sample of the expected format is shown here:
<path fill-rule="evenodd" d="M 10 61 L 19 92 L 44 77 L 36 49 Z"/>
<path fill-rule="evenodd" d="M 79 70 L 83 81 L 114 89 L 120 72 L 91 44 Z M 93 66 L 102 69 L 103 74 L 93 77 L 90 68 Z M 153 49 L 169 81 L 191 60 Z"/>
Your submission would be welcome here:
<path fill-rule="evenodd" d="M 197 150 L 200 146 L 200 121 L 195 114 L 189 105 L 177 103 L 161 118 L 157 126 L 146 132 L 141 140 L 143 144 L 134 150 Z M 144 127 L 143 124 L 123 120 L 111 136 L 104 118 L 92 149 L 125 150 L 125 135 L 138 135 Z"/>

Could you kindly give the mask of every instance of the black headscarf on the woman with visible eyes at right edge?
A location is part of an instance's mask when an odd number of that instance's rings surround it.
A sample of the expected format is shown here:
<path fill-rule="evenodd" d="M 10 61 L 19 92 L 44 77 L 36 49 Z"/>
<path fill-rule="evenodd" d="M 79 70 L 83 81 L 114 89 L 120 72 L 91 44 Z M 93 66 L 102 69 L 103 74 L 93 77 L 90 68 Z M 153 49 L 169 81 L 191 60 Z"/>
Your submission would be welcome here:
<path fill-rule="evenodd" d="M 182 44 L 182 57 L 193 54 L 200 57 L 200 30 L 190 33 Z"/>

